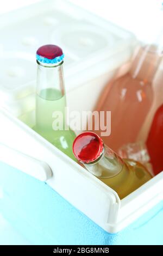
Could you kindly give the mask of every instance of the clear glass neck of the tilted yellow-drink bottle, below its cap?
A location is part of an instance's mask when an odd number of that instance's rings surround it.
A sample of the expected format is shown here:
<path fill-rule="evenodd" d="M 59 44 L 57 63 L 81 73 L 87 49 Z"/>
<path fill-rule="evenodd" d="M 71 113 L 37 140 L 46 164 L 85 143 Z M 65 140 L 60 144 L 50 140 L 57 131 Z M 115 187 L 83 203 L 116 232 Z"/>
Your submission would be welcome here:
<path fill-rule="evenodd" d="M 121 172 L 124 162 L 105 145 L 101 156 L 91 163 L 84 163 L 84 166 L 98 178 L 111 178 Z"/>

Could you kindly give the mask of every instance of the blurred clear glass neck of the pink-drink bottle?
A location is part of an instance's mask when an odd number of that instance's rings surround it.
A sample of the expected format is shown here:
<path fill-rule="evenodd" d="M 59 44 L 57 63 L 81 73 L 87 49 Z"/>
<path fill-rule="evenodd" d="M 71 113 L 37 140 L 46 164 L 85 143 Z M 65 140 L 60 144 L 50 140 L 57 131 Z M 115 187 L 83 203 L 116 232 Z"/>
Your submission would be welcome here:
<path fill-rule="evenodd" d="M 131 66 L 131 76 L 143 83 L 152 83 L 161 58 L 159 45 L 141 47 Z"/>

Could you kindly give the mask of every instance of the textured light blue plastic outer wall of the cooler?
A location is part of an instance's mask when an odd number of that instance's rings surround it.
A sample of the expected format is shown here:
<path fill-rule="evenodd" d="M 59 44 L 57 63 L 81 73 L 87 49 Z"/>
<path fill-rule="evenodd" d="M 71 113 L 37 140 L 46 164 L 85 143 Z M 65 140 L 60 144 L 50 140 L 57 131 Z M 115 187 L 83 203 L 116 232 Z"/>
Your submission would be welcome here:
<path fill-rule="evenodd" d="M 163 202 L 109 234 L 44 182 L 4 163 L 0 187 L 3 216 L 36 245 L 163 245 Z"/>

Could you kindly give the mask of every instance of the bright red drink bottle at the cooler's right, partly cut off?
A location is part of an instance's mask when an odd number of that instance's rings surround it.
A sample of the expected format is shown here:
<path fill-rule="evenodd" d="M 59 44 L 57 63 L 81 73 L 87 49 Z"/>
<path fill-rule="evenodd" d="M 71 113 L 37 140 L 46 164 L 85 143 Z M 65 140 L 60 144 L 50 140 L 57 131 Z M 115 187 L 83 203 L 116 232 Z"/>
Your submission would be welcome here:
<path fill-rule="evenodd" d="M 163 104 L 156 111 L 146 141 L 154 174 L 163 170 Z"/>

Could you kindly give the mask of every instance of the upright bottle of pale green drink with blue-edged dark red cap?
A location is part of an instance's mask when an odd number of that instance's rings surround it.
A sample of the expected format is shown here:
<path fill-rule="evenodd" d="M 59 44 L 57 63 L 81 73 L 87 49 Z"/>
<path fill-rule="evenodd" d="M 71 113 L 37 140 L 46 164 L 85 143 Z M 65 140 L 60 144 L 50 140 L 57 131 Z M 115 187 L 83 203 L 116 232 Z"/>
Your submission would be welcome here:
<path fill-rule="evenodd" d="M 43 45 L 36 52 L 36 125 L 34 130 L 76 161 L 75 133 L 65 121 L 64 53 L 57 45 Z"/>

